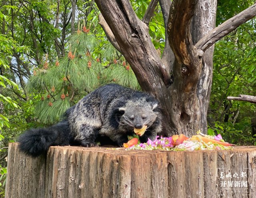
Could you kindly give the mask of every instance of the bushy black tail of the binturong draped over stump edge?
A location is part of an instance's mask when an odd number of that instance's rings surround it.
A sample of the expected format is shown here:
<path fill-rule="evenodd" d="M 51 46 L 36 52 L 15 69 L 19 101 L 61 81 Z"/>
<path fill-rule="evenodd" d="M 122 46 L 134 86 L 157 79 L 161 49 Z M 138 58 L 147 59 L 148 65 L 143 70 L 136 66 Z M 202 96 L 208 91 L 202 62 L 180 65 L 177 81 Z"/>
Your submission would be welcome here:
<path fill-rule="evenodd" d="M 28 129 L 20 135 L 20 150 L 31 156 L 39 156 L 53 145 L 68 145 L 70 141 L 68 121 L 62 121 L 48 128 Z"/>

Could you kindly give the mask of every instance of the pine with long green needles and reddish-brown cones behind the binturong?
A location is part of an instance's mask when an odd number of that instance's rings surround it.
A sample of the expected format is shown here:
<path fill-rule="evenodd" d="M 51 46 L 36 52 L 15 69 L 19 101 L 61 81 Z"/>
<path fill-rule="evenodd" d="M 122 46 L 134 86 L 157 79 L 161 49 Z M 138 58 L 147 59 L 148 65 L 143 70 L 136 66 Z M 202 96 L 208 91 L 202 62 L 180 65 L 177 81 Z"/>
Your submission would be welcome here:
<path fill-rule="evenodd" d="M 110 43 L 102 46 L 95 57 L 96 36 L 84 21 L 81 26 L 78 23 L 78 27 L 69 40 L 67 56 L 49 62 L 46 54 L 44 64 L 34 68 L 34 75 L 27 83 L 29 93 L 42 95 L 35 107 L 35 115 L 42 123 L 56 123 L 66 109 L 106 83 L 140 89 L 124 57 Z"/>

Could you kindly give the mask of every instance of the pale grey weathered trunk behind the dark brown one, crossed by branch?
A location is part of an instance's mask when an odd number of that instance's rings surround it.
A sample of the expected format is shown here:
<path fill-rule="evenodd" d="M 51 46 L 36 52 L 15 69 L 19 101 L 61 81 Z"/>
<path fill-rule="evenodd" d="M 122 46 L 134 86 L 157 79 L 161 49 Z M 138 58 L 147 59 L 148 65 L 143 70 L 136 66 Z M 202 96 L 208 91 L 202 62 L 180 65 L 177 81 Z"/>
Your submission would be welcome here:
<path fill-rule="evenodd" d="M 193 44 L 196 44 L 201 38 L 215 28 L 216 10 L 217 0 L 199 0 L 191 24 Z M 207 111 L 212 88 L 213 53 L 214 45 L 208 48 L 201 57 L 202 71 L 196 87 L 196 95 L 198 99 L 197 108 L 200 112 L 197 130 L 200 130 L 203 133 L 207 132 L 205 129 L 207 129 Z"/>

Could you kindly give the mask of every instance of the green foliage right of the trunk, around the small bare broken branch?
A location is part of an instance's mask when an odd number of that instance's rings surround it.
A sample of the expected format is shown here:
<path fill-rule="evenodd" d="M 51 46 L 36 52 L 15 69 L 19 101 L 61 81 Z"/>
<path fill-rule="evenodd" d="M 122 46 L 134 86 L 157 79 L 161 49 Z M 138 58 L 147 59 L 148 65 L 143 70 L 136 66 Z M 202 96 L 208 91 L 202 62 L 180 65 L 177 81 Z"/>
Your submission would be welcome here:
<path fill-rule="evenodd" d="M 230 4 L 239 4 L 234 10 Z M 220 1 L 217 24 L 232 17 L 252 1 Z M 226 10 L 225 10 L 226 9 Z M 239 26 L 215 44 L 212 93 L 208 114 L 208 133 L 221 133 L 227 141 L 239 145 L 256 145 L 252 133 L 256 107 L 252 103 L 228 101 L 228 96 L 256 95 L 255 19 Z"/>

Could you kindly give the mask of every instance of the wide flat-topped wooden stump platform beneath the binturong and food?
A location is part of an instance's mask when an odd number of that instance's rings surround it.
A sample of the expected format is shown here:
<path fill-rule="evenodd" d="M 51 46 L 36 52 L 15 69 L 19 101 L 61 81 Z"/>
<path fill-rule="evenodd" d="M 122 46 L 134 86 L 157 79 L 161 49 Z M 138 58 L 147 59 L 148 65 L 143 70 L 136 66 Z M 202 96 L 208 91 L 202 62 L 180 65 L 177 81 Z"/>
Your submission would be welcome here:
<path fill-rule="evenodd" d="M 142 151 L 10 143 L 6 198 L 255 198 L 256 147 Z"/>

